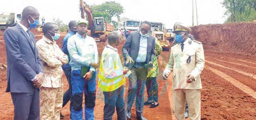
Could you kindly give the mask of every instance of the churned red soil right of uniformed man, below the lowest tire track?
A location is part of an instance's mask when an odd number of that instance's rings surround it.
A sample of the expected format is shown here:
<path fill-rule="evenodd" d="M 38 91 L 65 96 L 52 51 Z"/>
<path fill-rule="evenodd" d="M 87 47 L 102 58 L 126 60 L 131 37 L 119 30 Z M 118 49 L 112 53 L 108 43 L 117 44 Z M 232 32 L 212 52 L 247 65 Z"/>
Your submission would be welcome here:
<path fill-rule="evenodd" d="M 253 97 L 207 68 L 201 81 L 201 120 L 256 119 Z"/>

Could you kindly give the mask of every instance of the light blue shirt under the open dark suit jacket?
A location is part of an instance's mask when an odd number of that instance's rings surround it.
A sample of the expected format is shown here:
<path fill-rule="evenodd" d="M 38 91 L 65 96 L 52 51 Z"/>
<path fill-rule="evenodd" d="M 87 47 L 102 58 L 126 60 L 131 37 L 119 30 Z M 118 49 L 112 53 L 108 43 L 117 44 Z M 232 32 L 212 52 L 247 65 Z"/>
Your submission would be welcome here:
<path fill-rule="evenodd" d="M 140 36 L 139 43 L 139 54 L 136 59 L 136 62 L 145 62 L 147 60 L 147 47 L 148 47 L 148 36 Z"/>

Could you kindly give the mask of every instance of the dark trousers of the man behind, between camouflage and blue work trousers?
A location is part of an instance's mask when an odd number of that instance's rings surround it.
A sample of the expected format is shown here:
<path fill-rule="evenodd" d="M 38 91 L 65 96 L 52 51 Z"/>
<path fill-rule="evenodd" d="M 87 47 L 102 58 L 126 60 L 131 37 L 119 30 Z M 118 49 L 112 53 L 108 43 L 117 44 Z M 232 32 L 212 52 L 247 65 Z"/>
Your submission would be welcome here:
<path fill-rule="evenodd" d="M 68 82 L 68 85 L 69 85 L 69 88 L 67 89 L 67 91 L 64 93 L 63 95 L 63 104 L 62 104 L 62 107 L 64 107 L 68 101 L 70 100 L 70 113 L 71 113 L 71 108 L 72 108 L 72 85 L 71 85 L 71 67 L 68 67 L 68 68 L 62 68 L 65 75 L 66 75 L 66 78 L 67 78 L 67 82 Z M 71 116 L 70 116 L 71 118 Z"/>

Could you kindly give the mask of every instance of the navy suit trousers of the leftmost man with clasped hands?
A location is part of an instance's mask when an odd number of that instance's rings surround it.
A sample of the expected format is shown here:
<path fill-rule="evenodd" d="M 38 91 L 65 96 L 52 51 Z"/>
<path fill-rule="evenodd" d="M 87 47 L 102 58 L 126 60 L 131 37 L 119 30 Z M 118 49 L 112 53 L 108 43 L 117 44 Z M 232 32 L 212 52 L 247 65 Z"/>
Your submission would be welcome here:
<path fill-rule="evenodd" d="M 11 92 L 14 120 L 39 120 L 39 89 L 30 93 Z"/>

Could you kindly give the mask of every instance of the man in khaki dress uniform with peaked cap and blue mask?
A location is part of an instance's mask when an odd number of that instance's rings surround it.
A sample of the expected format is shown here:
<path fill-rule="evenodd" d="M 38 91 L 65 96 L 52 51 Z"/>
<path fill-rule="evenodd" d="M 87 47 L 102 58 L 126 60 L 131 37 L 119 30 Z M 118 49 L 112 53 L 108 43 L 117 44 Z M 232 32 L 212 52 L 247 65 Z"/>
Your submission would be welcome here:
<path fill-rule="evenodd" d="M 164 70 L 163 79 L 173 72 L 174 112 L 177 120 L 184 120 L 185 103 L 189 105 L 189 118 L 201 118 L 200 74 L 204 68 L 204 50 L 201 42 L 191 40 L 191 29 L 175 24 L 177 43 L 171 47 L 169 62 Z"/>

